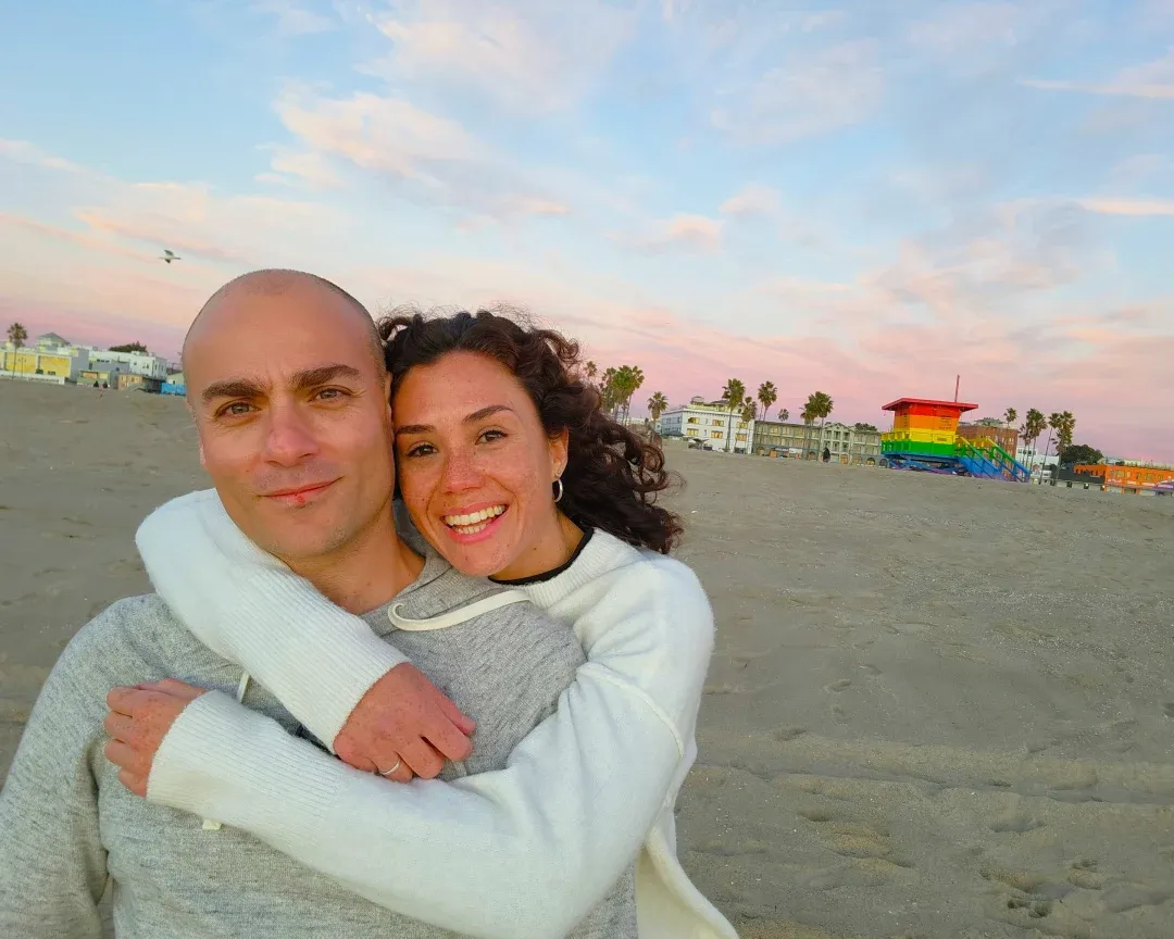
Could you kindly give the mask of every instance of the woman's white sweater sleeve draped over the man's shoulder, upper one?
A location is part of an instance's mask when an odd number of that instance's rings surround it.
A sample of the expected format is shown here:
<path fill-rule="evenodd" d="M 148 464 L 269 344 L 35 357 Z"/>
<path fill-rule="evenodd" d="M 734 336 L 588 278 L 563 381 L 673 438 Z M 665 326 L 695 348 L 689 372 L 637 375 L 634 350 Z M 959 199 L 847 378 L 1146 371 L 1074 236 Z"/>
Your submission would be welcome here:
<path fill-rule="evenodd" d="M 196 639 L 331 747 L 371 685 L 409 661 L 254 545 L 215 489 L 155 509 L 135 543 L 155 590 Z"/>

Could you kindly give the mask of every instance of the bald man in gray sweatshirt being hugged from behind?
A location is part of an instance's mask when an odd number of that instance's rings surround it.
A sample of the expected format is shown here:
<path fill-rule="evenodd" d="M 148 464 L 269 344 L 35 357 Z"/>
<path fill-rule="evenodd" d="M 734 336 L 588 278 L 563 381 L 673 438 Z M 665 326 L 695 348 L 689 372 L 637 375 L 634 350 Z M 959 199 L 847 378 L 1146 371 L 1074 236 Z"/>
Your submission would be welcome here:
<path fill-rule="evenodd" d="M 447 762 L 445 779 L 504 768 L 554 711 L 582 650 L 568 627 L 529 603 L 491 600 L 499 588 L 398 538 L 389 377 L 362 305 L 310 275 L 247 275 L 201 311 L 184 344 L 184 376 L 215 486 L 184 498 L 218 502 L 257 549 L 362 615 L 379 636 L 393 633 L 396 655 L 410 656 L 459 705 L 448 705 L 453 725 L 471 729 L 461 711 L 477 722 L 472 754 L 453 730 L 451 743 L 467 758 Z M 392 599 L 405 617 L 450 613 L 454 622 L 394 631 Z M 154 693 L 117 693 L 140 703 L 112 700 L 109 716 L 107 693 L 168 677 L 211 689 L 188 705 L 210 736 L 217 715 L 235 712 L 231 698 L 269 718 L 276 732 L 299 731 L 276 698 L 201 646 L 157 595 L 112 606 L 62 653 L 0 793 L 0 935 L 97 939 L 108 887 L 120 939 L 454 935 L 440 927 L 444 910 L 407 898 L 407 914 L 391 912 L 249 835 L 135 795 L 146 779 L 135 779 L 128 722 L 153 720 Z M 292 744 L 337 763 L 309 742 Z M 394 784 L 379 775 L 400 769 L 344 771 L 360 785 L 387 788 Z M 593 914 L 598 928 L 575 935 L 635 935 L 634 903 L 629 878 Z"/>

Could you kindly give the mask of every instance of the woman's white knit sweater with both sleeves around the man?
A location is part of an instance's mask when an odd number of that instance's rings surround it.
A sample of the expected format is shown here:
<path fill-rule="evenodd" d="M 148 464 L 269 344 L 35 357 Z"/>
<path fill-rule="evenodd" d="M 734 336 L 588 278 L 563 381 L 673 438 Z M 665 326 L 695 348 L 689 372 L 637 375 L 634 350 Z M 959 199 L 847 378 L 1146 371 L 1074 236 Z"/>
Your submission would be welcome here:
<path fill-rule="evenodd" d="M 157 509 L 137 543 L 191 631 L 322 741 L 404 661 L 256 548 L 215 492 Z M 573 624 L 588 662 L 505 770 L 372 785 L 370 774 L 205 695 L 168 732 L 149 798 L 249 831 L 396 912 L 427 910 L 484 939 L 565 935 L 639 854 L 642 939 L 736 939 L 676 858 L 673 806 L 696 757 L 714 635 L 696 576 L 596 532 L 569 569 L 522 589 Z"/>

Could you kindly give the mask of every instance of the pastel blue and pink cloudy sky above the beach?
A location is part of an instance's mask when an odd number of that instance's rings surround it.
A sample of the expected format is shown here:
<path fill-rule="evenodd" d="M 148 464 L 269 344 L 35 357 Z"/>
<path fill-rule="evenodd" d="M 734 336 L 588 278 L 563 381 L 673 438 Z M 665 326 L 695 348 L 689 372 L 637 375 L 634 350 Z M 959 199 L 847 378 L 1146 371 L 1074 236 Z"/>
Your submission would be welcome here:
<path fill-rule="evenodd" d="M 175 354 L 292 266 L 524 305 L 637 404 L 960 373 L 1174 459 L 1174 0 L 47 0 L 0 87 L 0 325 Z"/>

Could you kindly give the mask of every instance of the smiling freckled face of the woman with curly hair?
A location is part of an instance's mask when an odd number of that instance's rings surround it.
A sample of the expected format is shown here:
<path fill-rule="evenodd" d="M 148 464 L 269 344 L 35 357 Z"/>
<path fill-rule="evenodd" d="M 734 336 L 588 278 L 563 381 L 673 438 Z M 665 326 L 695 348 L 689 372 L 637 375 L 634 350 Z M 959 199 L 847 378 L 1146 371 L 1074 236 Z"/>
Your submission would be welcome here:
<path fill-rule="evenodd" d="M 450 352 L 411 369 L 391 410 L 404 504 L 453 567 L 510 579 L 561 563 L 552 484 L 567 434 L 547 435 L 508 369 Z"/>

